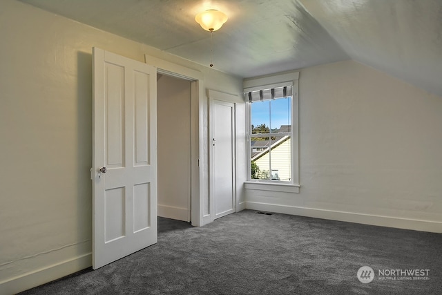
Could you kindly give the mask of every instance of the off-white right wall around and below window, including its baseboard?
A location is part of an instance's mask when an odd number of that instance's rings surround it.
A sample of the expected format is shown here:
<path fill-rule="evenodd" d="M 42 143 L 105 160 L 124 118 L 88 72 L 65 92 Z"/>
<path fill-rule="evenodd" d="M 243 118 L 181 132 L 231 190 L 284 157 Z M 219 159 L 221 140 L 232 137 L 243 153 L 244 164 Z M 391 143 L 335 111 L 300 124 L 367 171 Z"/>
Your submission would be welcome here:
<path fill-rule="evenodd" d="M 355 61 L 300 70 L 300 193 L 250 209 L 442 232 L 442 97 Z"/>

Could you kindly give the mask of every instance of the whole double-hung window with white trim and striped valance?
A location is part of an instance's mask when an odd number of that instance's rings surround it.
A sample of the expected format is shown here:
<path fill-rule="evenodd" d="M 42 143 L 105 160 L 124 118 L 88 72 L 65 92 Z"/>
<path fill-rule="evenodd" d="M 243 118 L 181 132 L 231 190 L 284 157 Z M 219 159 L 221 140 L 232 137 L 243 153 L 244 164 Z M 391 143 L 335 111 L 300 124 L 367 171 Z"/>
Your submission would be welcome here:
<path fill-rule="evenodd" d="M 247 85 L 249 181 L 298 186 L 298 73 L 245 80 Z"/>

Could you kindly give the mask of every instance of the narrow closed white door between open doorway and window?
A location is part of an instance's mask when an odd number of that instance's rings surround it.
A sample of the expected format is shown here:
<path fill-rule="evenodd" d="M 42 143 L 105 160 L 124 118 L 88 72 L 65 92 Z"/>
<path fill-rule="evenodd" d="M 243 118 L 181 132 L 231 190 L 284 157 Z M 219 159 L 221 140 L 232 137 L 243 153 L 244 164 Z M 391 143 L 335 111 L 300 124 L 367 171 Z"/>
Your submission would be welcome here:
<path fill-rule="evenodd" d="M 211 99 L 211 194 L 213 218 L 236 211 L 235 104 Z"/>

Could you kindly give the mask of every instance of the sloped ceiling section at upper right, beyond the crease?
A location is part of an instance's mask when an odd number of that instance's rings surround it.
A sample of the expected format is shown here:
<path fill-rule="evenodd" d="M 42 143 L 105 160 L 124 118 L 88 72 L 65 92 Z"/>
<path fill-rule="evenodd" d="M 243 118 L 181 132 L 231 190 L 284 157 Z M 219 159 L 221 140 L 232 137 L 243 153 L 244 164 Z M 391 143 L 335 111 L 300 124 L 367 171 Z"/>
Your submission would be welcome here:
<path fill-rule="evenodd" d="M 441 0 L 302 0 L 355 61 L 442 96 Z"/>

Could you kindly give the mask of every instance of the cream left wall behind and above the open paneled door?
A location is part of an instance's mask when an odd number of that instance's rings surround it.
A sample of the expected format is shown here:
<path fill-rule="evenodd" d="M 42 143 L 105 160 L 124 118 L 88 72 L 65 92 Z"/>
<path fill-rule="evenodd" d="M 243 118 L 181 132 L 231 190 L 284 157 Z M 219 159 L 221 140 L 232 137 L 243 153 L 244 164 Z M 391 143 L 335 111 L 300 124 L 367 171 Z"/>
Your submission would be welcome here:
<path fill-rule="evenodd" d="M 0 36 L 0 294 L 8 294 L 91 265 L 93 46 L 200 70 L 206 88 L 240 93 L 242 81 L 15 0 L 0 1 Z M 207 162 L 206 150 L 200 158 Z M 208 182 L 202 188 L 208 196 Z"/>

